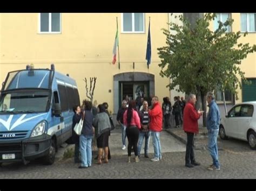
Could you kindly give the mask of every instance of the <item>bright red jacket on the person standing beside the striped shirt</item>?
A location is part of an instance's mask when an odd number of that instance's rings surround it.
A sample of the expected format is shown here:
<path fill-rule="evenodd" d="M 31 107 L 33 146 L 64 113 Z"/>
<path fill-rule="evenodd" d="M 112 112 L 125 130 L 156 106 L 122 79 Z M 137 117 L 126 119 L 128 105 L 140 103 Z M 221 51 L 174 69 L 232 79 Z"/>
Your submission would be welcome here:
<path fill-rule="evenodd" d="M 153 105 L 152 109 L 149 110 L 150 116 L 150 130 L 160 132 L 163 130 L 163 111 L 159 102 Z"/>

